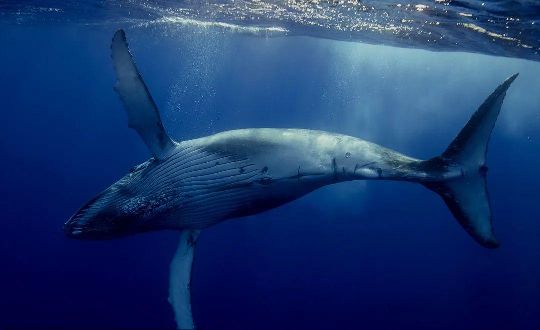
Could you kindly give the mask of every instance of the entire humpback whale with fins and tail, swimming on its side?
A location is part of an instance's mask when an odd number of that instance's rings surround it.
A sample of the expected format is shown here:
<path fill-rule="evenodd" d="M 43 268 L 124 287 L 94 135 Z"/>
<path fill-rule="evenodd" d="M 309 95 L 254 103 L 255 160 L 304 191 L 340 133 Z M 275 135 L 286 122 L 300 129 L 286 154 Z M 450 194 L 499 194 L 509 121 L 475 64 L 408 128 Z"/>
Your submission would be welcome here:
<path fill-rule="evenodd" d="M 488 142 L 508 88 L 505 80 L 449 147 L 428 160 L 352 136 L 308 129 L 238 129 L 174 141 L 119 30 L 112 40 L 115 86 L 152 158 L 92 198 L 64 224 L 68 237 L 110 239 L 180 230 L 171 263 L 170 297 L 179 328 L 194 327 L 191 269 L 200 231 L 258 214 L 325 185 L 350 180 L 420 183 L 440 195 L 457 221 L 487 248 L 493 232 L 485 165 Z"/>

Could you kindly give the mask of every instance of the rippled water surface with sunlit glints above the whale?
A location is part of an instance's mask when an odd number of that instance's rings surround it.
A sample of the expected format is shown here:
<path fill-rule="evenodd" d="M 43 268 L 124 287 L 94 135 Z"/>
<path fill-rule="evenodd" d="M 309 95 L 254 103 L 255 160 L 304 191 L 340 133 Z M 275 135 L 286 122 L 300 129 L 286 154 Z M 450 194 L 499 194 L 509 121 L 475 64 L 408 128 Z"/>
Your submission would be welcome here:
<path fill-rule="evenodd" d="M 2 1 L 11 24 L 215 25 L 539 60 L 540 1 Z"/>

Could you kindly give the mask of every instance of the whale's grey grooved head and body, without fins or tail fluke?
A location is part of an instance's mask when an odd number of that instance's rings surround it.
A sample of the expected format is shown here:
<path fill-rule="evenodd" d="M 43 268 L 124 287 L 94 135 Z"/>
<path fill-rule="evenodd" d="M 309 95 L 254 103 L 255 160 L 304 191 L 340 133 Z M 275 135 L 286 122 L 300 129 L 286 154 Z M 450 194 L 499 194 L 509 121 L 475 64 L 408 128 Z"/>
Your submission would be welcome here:
<path fill-rule="evenodd" d="M 77 238 L 107 239 L 159 229 L 204 229 L 337 182 L 434 182 L 461 176 L 458 168 L 428 174 L 425 164 L 347 135 L 231 130 L 177 143 L 165 159 L 134 167 L 80 209 L 65 230 Z"/>

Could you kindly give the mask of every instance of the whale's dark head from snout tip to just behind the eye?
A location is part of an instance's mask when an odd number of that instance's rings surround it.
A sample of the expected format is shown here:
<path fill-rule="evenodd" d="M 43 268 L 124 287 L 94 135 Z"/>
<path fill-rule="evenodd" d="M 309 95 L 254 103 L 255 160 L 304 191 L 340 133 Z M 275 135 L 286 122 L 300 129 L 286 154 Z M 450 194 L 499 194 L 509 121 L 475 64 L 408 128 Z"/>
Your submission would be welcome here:
<path fill-rule="evenodd" d="M 150 221 L 160 205 L 156 198 L 143 189 L 147 170 L 152 161 L 133 167 L 130 172 L 105 191 L 83 205 L 64 224 L 66 236 L 80 239 L 111 239 L 150 231 Z"/>

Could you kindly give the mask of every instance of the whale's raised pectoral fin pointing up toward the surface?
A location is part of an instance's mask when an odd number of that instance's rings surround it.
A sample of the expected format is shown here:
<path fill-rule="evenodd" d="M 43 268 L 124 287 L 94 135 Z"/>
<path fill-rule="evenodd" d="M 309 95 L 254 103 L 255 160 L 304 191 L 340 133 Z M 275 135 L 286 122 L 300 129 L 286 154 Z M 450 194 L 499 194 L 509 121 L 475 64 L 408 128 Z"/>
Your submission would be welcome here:
<path fill-rule="evenodd" d="M 156 160 L 164 159 L 176 143 L 165 132 L 156 102 L 133 61 L 124 30 L 114 34 L 111 50 L 118 79 L 114 90 L 124 104 L 128 125 L 137 130 Z"/>

